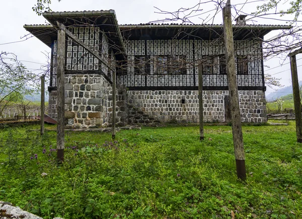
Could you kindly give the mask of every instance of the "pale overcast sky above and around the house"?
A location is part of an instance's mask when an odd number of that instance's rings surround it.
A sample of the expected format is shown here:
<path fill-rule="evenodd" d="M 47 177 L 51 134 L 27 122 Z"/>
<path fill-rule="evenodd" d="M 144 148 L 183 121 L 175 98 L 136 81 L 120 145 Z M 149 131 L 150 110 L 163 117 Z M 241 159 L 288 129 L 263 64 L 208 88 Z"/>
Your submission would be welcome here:
<path fill-rule="evenodd" d="M 0 31 L 0 50 L 6 52 L 13 52 L 18 56 L 19 60 L 24 61 L 23 63 L 29 69 L 40 68 L 40 64 L 46 63 L 45 55 L 42 52 L 50 52 L 50 48 L 43 44 L 35 37 L 31 37 L 25 41 L 17 42 L 26 38 L 22 38 L 28 34 L 28 32 L 23 28 L 24 24 L 46 24 L 46 20 L 43 16 L 38 16 L 33 12 L 32 7 L 36 4 L 36 0 L 13 0 L 13 1 L 1 1 L 0 13 L 2 15 L 1 31 Z M 50 8 L 52 11 L 89 11 L 89 10 L 115 10 L 117 20 L 119 24 L 140 24 L 148 23 L 151 21 L 164 20 L 166 18 L 171 18 L 167 14 L 159 14 L 155 12 L 160 12 L 158 9 L 167 12 L 177 11 L 180 8 L 190 8 L 195 6 L 199 0 L 62 0 L 58 2 L 57 0 L 52 0 L 52 5 Z M 251 13 L 255 11 L 256 3 L 250 3 L 252 0 L 248 0 L 248 4 L 243 4 L 246 1 L 234 1 L 232 0 L 232 5 L 236 5 L 237 10 L 242 10 L 244 13 Z M 196 8 L 195 8 L 196 9 Z M 198 12 L 199 16 L 191 18 L 191 21 L 195 24 L 204 23 L 202 19 L 205 19 L 205 23 L 211 24 L 222 24 L 222 12 L 219 10 L 215 15 L 214 21 L 211 19 L 213 17 L 213 12 L 215 9 L 214 3 L 209 3 L 206 5 L 201 5 L 199 9 L 202 12 Z M 210 12 L 208 12 L 210 11 Z M 201 14 L 203 13 L 203 14 Z M 238 14 L 241 14 L 240 12 Z M 182 15 L 182 14 L 181 14 Z M 192 14 L 196 15 L 196 14 Z M 236 17 L 236 11 L 232 10 L 232 15 Z M 249 17 L 247 17 L 248 19 Z M 171 22 L 170 22 L 171 23 Z M 176 23 L 176 22 L 173 22 Z M 235 23 L 235 22 L 234 22 Z M 258 19 L 249 21 L 248 24 L 283 24 L 287 25 L 285 22 L 269 19 Z M 278 32 L 273 31 L 266 37 L 271 37 L 276 35 Z M 30 35 L 29 35 L 30 36 Z M 10 43 L 15 42 L 15 43 Z M 287 54 L 285 54 L 287 55 Z M 302 55 L 299 54 L 296 57 L 297 65 L 302 65 Z M 37 62 L 37 63 L 32 63 Z M 281 63 L 283 66 L 280 66 Z M 264 64 L 268 65 L 269 69 L 265 67 L 265 73 L 271 75 L 276 74 L 278 78 L 282 78 L 281 84 L 288 86 L 291 84 L 290 80 L 290 65 L 289 60 L 272 58 L 266 61 Z M 269 69 L 269 70 L 268 70 Z M 302 80 L 302 66 L 298 67 L 298 77 Z M 271 89 L 267 89 L 267 94 L 271 92 Z M 280 94 L 281 96 L 282 94 Z"/>

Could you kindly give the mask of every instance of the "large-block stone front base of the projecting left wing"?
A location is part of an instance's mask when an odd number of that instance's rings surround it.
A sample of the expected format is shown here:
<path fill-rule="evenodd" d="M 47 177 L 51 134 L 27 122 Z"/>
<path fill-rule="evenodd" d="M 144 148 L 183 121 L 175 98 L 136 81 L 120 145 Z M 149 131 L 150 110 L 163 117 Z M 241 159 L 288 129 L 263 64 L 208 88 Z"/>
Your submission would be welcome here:
<path fill-rule="evenodd" d="M 108 125 L 108 95 L 112 86 L 101 75 L 65 76 L 67 128 Z"/>

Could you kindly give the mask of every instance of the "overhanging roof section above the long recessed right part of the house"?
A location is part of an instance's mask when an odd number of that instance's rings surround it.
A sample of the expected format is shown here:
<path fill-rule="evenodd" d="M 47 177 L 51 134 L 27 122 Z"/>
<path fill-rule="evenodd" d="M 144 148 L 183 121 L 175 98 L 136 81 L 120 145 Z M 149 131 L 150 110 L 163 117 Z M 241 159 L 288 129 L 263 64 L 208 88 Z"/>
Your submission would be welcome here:
<path fill-rule="evenodd" d="M 137 24 L 119 25 L 122 35 L 131 39 L 217 39 L 223 25 L 213 24 Z M 272 30 L 290 29 L 289 25 L 233 25 L 234 39 L 263 38 Z"/>

